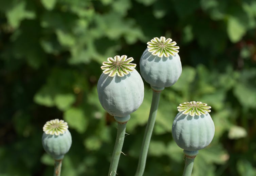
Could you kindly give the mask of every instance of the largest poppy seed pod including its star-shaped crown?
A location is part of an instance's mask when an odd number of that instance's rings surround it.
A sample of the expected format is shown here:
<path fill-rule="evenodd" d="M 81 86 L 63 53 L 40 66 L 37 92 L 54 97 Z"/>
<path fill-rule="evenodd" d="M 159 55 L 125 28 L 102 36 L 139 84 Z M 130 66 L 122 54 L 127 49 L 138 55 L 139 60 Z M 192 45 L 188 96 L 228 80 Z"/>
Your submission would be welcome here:
<path fill-rule="evenodd" d="M 101 67 L 104 71 L 98 80 L 99 102 L 111 115 L 124 117 L 137 110 L 144 98 L 144 84 L 133 58 L 126 55 L 108 58 Z"/>

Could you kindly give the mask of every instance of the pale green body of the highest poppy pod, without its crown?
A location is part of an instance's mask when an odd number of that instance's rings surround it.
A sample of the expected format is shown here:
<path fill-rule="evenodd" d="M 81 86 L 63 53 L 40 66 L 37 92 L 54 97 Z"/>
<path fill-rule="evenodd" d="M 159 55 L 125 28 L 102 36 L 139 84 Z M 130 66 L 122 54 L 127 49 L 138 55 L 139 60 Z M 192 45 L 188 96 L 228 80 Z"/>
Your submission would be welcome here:
<path fill-rule="evenodd" d="M 182 67 L 180 56 L 158 57 L 146 49 L 140 60 L 140 71 L 144 80 L 151 86 L 169 87 L 179 79 Z"/>

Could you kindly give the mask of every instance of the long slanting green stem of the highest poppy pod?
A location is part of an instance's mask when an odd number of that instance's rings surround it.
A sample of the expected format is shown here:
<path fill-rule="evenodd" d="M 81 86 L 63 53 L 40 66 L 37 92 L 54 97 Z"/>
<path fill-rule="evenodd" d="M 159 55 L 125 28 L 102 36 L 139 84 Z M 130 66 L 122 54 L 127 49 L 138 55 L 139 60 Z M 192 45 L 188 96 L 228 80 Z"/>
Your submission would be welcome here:
<path fill-rule="evenodd" d="M 153 87 L 152 87 L 152 89 L 153 89 Z M 154 124 L 156 122 L 160 93 L 161 93 L 161 90 L 163 90 L 163 89 L 164 88 L 160 88 L 160 90 L 153 89 L 152 102 L 151 102 L 151 108 L 150 108 L 150 112 L 149 112 L 148 123 L 146 126 L 144 138 L 142 141 L 141 154 L 140 154 L 139 163 L 138 163 L 138 167 L 137 167 L 135 176 L 142 176 L 144 173 L 144 170 L 145 170 L 149 143 L 150 143 L 150 139 L 152 136 Z"/>

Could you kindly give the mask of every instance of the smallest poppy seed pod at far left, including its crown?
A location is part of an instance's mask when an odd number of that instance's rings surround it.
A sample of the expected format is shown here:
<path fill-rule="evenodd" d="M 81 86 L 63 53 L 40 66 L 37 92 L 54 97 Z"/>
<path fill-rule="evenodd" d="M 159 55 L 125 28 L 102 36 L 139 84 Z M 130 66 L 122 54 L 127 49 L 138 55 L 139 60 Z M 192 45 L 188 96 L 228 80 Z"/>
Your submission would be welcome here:
<path fill-rule="evenodd" d="M 55 160 L 62 159 L 72 144 L 67 122 L 59 119 L 50 120 L 43 126 L 43 131 L 44 150 Z"/>

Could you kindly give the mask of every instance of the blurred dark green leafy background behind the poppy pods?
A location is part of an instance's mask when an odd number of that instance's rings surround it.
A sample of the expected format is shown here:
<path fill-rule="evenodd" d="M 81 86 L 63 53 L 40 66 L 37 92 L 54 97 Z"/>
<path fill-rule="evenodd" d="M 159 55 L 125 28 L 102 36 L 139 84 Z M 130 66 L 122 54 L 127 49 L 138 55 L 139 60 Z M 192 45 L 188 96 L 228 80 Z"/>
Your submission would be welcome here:
<path fill-rule="evenodd" d="M 138 66 L 153 37 L 180 46 L 183 71 L 161 93 L 145 176 L 182 175 L 171 136 L 177 106 L 212 106 L 215 136 L 193 176 L 256 175 L 255 0 L 0 0 L 0 175 L 49 176 L 41 145 L 51 119 L 73 144 L 62 176 L 107 175 L 116 123 L 97 97 L 100 66 L 126 54 Z M 152 91 L 127 124 L 118 175 L 135 173 Z"/>

